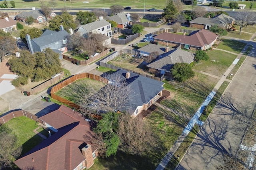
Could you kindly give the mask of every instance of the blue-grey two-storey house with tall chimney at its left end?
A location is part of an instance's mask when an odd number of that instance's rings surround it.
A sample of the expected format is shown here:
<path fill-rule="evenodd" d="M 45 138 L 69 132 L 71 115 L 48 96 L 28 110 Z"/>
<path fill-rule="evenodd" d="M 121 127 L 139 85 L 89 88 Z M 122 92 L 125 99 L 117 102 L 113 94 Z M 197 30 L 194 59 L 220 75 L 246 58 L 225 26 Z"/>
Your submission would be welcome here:
<path fill-rule="evenodd" d="M 59 54 L 59 59 L 63 59 L 62 53 L 68 51 L 66 47 L 68 35 L 69 33 L 64 30 L 63 25 L 60 25 L 60 31 L 46 29 L 41 37 L 34 39 L 30 39 L 30 35 L 27 34 L 26 40 L 30 53 L 42 52 L 44 49 L 50 48 Z"/>

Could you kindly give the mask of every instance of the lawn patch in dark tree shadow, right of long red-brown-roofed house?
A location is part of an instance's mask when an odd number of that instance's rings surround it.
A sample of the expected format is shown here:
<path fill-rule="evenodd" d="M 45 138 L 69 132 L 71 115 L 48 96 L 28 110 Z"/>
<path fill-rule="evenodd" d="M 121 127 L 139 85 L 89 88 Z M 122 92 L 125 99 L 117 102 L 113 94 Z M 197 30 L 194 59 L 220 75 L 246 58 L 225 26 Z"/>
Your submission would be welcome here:
<path fill-rule="evenodd" d="M 224 39 L 222 42 L 218 44 L 216 48 L 239 54 L 245 45 L 246 43 L 242 43 L 240 41 Z"/>

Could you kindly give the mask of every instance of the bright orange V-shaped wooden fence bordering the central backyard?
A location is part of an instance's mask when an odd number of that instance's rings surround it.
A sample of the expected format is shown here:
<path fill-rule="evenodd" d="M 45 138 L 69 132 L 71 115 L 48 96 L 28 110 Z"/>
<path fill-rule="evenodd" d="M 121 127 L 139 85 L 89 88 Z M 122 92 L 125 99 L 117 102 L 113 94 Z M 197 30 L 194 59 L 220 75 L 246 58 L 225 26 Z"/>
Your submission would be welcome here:
<path fill-rule="evenodd" d="M 108 80 L 104 77 L 101 77 L 101 76 L 97 76 L 97 75 L 94 75 L 94 74 L 90 74 L 90 73 L 81 73 L 81 74 L 76 74 L 74 76 L 70 76 L 69 78 L 67 78 L 66 80 L 60 82 L 59 84 L 56 84 L 55 86 L 52 87 L 51 89 L 51 97 L 55 100 L 58 100 L 59 102 L 62 102 L 70 107 L 74 107 L 74 108 L 77 108 L 79 109 L 80 107 L 77 105 L 77 104 L 74 104 L 73 102 L 67 100 L 67 99 L 64 99 L 60 96 L 57 96 L 56 92 L 58 92 L 60 89 L 68 86 L 69 84 L 71 84 L 72 82 L 75 82 L 76 80 L 79 80 L 79 79 L 82 79 L 82 78 L 90 78 L 90 79 L 93 79 L 93 80 L 97 80 L 97 81 L 100 81 L 100 82 L 104 82 L 104 83 L 108 83 Z"/>

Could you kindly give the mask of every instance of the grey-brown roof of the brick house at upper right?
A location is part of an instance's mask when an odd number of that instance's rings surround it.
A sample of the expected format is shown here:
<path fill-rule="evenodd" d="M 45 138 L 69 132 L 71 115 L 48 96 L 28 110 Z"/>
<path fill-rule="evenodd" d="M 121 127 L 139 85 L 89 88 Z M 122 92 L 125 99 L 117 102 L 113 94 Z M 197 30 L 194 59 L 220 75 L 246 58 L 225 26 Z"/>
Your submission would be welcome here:
<path fill-rule="evenodd" d="M 225 27 L 228 23 L 232 23 L 234 18 L 227 16 L 225 14 L 220 14 L 214 18 L 205 18 L 198 17 L 194 20 L 189 21 L 189 23 L 198 23 L 202 25 L 215 25 L 217 24 L 219 27 Z"/>

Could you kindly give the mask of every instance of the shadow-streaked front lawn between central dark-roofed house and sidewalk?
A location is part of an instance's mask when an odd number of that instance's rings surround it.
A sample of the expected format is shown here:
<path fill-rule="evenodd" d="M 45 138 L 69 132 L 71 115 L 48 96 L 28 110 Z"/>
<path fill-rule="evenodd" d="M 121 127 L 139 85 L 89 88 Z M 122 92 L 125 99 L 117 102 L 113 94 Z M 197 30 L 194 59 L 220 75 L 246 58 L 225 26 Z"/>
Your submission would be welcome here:
<path fill-rule="evenodd" d="M 195 74 L 194 78 L 184 83 L 164 80 L 164 88 L 171 95 L 161 104 L 192 117 L 218 82 L 217 78 L 198 72 Z"/>

